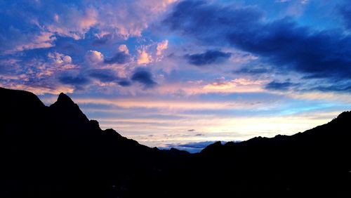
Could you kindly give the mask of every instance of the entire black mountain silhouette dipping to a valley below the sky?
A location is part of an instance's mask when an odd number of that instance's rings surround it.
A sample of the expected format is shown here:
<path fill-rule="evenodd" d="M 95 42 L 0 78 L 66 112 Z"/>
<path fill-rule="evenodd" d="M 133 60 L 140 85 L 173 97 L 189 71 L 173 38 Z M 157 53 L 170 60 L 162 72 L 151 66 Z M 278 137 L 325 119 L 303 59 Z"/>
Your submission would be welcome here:
<path fill-rule="evenodd" d="M 0 197 L 351 197 L 351 112 L 304 133 L 158 150 L 61 93 L 0 88 Z"/>

